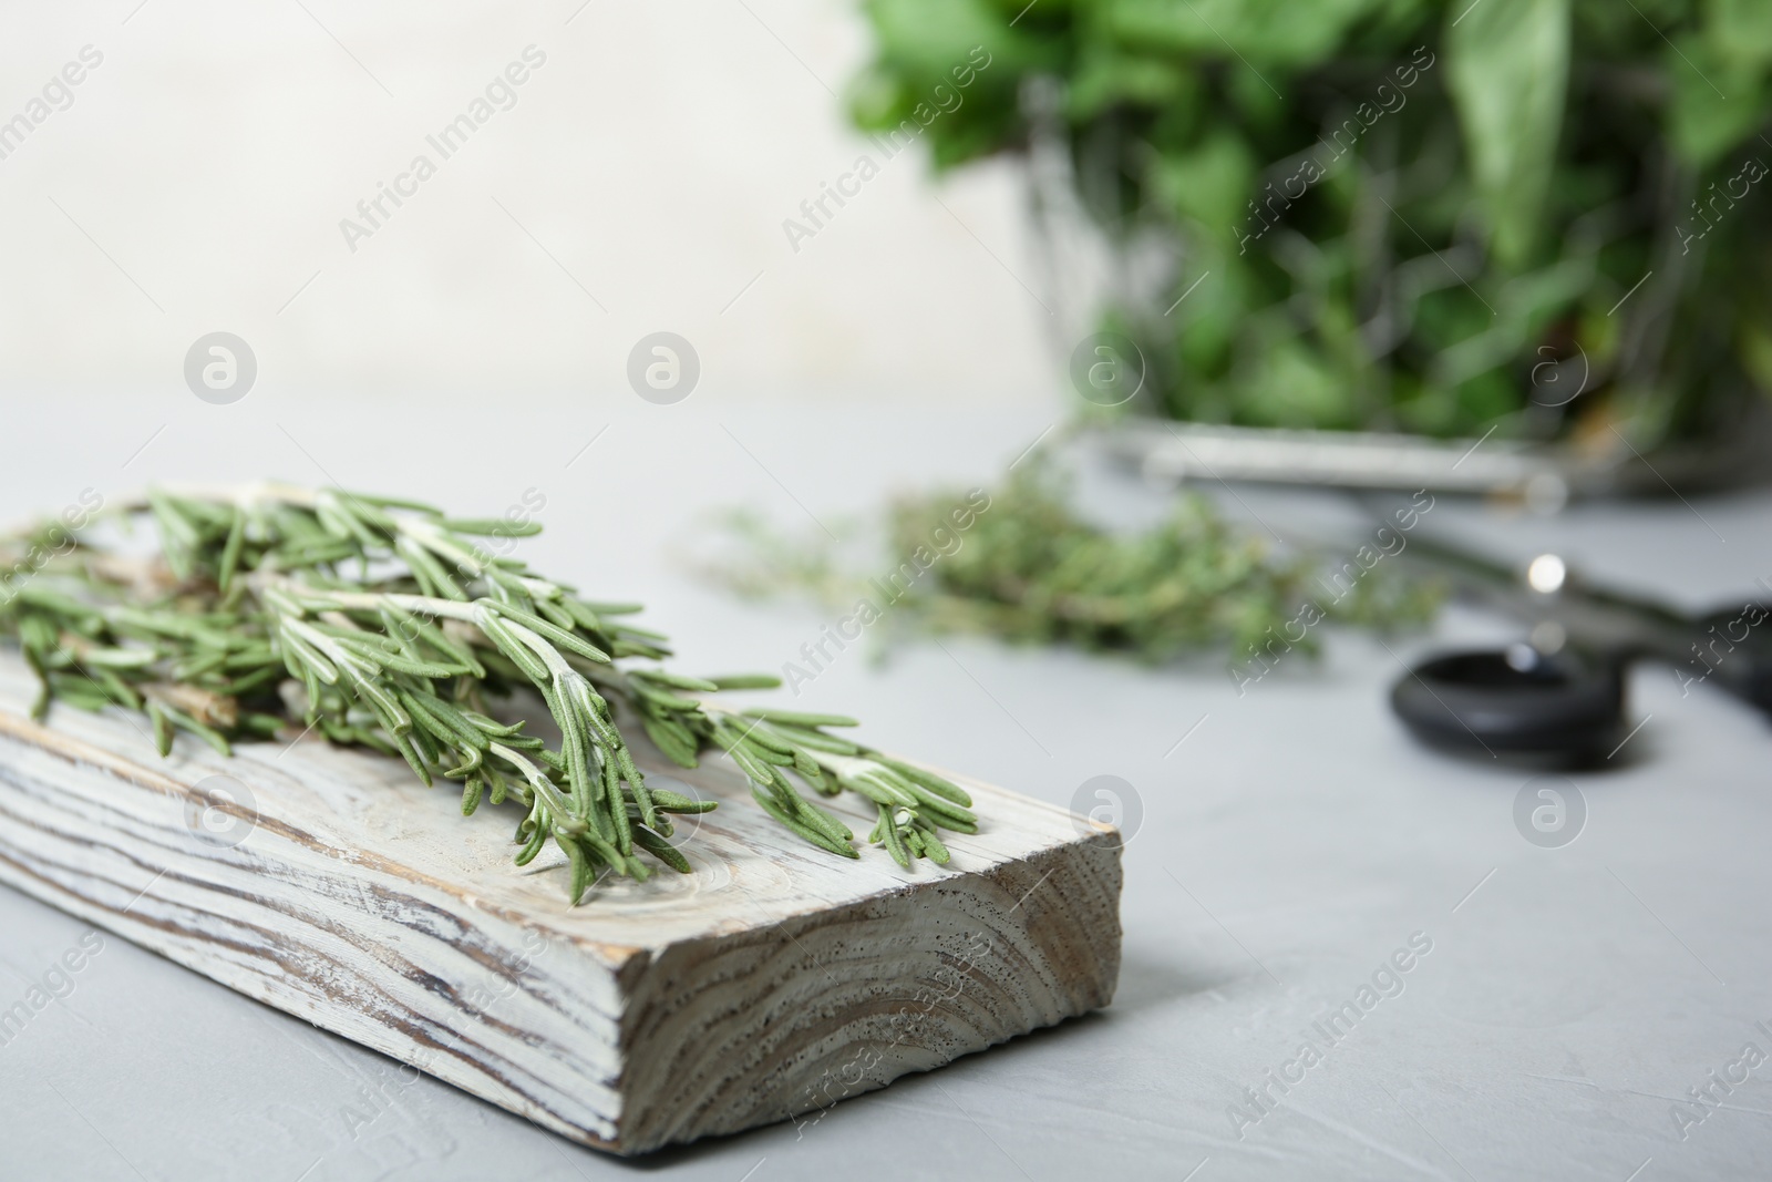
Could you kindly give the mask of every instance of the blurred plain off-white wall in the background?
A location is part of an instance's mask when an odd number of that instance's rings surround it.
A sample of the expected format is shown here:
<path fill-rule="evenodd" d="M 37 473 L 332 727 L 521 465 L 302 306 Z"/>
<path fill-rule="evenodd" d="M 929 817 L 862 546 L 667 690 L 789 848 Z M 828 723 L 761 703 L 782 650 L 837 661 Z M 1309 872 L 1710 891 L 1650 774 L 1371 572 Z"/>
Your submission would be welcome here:
<path fill-rule="evenodd" d="M 216 330 L 285 393 L 601 392 L 656 330 L 698 349 L 696 397 L 1060 381 L 1006 165 L 932 184 L 918 147 L 789 246 L 870 151 L 829 92 L 867 57 L 858 0 L 136 4 L 0 7 L 0 121 L 105 55 L 0 159 L 7 399 L 183 392 Z M 353 253 L 340 218 L 528 44 L 517 105 Z"/>

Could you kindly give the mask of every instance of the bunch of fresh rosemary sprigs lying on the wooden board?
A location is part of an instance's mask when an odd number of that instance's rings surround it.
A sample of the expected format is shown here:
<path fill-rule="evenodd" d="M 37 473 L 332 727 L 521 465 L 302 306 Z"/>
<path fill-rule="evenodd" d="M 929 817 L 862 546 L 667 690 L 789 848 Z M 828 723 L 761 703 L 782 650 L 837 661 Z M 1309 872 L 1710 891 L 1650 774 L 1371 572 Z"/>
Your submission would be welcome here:
<path fill-rule="evenodd" d="M 51 702 L 142 709 L 161 755 L 181 730 L 229 753 L 301 719 L 404 757 L 425 785 L 461 782 L 464 815 L 519 805 L 517 865 L 555 842 L 574 904 L 604 872 L 649 877 L 641 852 L 688 872 L 666 842 L 672 813 L 714 808 L 647 785 L 633 727 L 682 767 L 725 751 L 771 817 L 833 854 L 858 858 L 854 835 L 787 773 L 872 801 L 870 840 L 904 867 L 948 861 L 939 829 L 976 831 L 962 789 L 831 734 L 854 719 L 721 705 L 721 689 L 780 682 L 670 672 L 666 638 L 627 620 L 638 606 L 581 599 L 473 540 L 537 525 L 282 484 L 151 491 L 120 514 L 152 517 L 154 558 L 87 535 L 0 540 L 0 571 L 14 571 L 0 578 L 0 636 L 41 680 L 39 718 Z M 546 702 L 558 748 L 494 718 L 489 700 L 519 689 Z"/>

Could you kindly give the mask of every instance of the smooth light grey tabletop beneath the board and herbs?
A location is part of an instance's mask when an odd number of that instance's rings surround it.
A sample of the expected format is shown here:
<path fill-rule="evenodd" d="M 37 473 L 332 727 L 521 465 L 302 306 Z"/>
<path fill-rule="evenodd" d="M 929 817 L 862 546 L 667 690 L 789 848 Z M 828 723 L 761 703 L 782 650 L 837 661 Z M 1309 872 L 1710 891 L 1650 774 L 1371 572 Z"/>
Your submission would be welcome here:
<path fill-rule="evenodd" d="M 170 386 L 5 392 L 0 516 L 172 477 L 337 480 L 475 514 L 537 491 L 539 565 L 647 601 L 686 668 L 780 668 L 824 617 L 695 579 L 709 510 L 817 528 L 895 487 L 989 486 L 1058 416 L 723 397 L 501 397 L 493 415 L 275 385 L 229 408 Z M 328 429 L 340 418 L 360 429 Z M 1088 494 L 1125 519 L 1164 503 L 1111 475 Z M 1324 537 L 1357 521 L 1324 496 L 1224 503 Z M 1706 606 L 1772 574 L 1767 509 L 1735 494 L 1522 517 L 1442 500 L 1430 519 Z M 1331 636 L 1320 663 L 1288 659 L 1242 695 L 1212 661 L 1152 670 L 957 638 L 884 666 L 842 654 L 801 702 L 859 714 L 875 741 L 1056 803 L 1097 805 L 1097 776 L 1129 785 L 1125 964 L 1106 1012 L 797 1127 L 615 1161 L 110 937 L 0 1046 L 0 1178 L 1768 1177 L 1772 735 L 1710 688 L 1639 670 L 1644 725 L 1572 780 L 1579 836 L 1535 845 L 1515 824 L 1529 773 L 1426 753 L 1384 705 L 1398 659 L 1508 634 L 1453 610 L 1389 647 Z M 0 1008 L 83 937 L 0 890 Z M 1430 950 L 1387 973 L 1411 941 Z M 1361 996 L 1375 975 L 1382 994 Z M 1348 1001 L 1370 1008 L 1324 1037 Z M 1306 1042 L 1318 1054 L 1302 1065 Z"/>

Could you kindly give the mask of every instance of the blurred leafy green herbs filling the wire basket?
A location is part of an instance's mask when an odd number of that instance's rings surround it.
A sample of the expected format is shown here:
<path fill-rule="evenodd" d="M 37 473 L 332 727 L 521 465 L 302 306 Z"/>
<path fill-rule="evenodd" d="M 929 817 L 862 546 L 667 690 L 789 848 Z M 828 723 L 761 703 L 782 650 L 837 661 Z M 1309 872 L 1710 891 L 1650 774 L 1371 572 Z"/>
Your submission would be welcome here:
<path fill-rule="evenodd" d="M 1168 243 L 1097 323 L 1141 409 L 1653 445 L 1772 390 L 1767 0 L 865 9 L 859 126 L 937 168 L 1060 145 L 1115 252 Z"/>

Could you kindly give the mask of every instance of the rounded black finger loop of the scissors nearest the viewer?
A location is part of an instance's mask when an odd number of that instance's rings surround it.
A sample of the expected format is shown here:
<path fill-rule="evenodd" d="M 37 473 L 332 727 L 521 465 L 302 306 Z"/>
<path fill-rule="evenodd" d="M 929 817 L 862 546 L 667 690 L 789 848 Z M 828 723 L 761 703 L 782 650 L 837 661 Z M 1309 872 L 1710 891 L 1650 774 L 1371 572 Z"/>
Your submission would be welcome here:
<path fill-rule="evenodd" d="M 1391 709 L 1430 746 L 1588 758 L 1616 743 L 1625 659 L 1529 645 L 1449 652 L 1403 673 Z"/>

